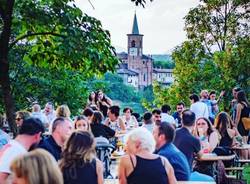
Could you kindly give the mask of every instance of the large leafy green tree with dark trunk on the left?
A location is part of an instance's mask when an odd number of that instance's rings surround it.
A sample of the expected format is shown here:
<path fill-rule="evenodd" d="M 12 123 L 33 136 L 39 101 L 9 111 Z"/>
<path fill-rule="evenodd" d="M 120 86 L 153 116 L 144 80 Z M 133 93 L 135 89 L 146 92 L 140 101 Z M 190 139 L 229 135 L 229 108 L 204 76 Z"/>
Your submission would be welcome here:
<path fill-rule="evenodd" d="M 10 55 L 27 47 L 28 64 L 52 70 L 78 70 L 86 77 L 114 71 L 118 63 L 108 31 L 71 0 L 0 1 L 0 85 L 10 128 L 16 132 Z"/>

